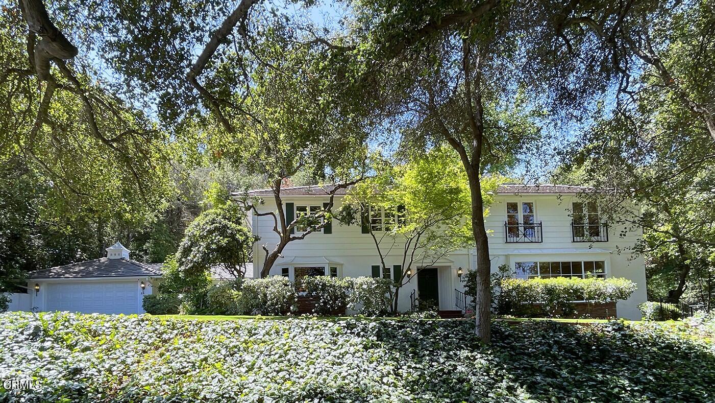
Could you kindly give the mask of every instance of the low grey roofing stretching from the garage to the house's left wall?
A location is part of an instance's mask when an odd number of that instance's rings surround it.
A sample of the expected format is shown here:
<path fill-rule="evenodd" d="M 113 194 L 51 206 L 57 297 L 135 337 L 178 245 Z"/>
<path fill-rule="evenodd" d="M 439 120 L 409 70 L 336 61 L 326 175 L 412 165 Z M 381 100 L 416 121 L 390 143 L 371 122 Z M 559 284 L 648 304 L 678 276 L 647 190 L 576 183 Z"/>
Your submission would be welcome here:
<path fill-rule="evenodd" d="M 159 277 L 164 263 L 139 263 L 129 259 L 99 258 L 70 263 L 29 273 L 29 278 Z M 231 273 L 220 266 L 211 269 L 212 278 L 230 280 Z M 253 278 L 253 263 L 246 264 L 246 278 Z"/>

